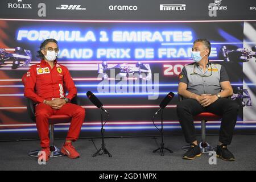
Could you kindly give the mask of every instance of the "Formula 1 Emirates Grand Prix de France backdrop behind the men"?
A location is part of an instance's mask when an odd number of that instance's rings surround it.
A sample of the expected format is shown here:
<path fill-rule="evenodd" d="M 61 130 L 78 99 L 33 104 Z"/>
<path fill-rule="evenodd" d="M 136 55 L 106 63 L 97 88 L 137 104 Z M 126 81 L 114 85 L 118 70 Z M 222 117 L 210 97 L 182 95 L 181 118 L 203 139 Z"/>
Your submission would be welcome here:
<path fill-rule="evenodd" d="M 100 110 L 86 97 L 89 90 L 110 113 L 108 137 L 158 135 L 152 115 L 174 92 L 164 109 L 164 129 L 167 135 L 181 134 L 179 73 L 192 63 L 198 38 L 210 40 L 209 60 L 228 72 L 231 99 L 240 104 L 235 133 L 255 133 L 256 7 L 254 1 L 236 2 L 1 1 L 0 140 L 38 138 L 21 77 L 40 62 L 36 53 L 48 38 L 57 40 L 57 62 L 71 72 L 86 109 L 81 137 L 100 136 Z M 208 122 L 209 133 L 218 134 L 220 123 Z M 200 133 L 200 121 L 195 125 Z M 56 125 L 56 137 L 64 137 L 68 127 Z"/>

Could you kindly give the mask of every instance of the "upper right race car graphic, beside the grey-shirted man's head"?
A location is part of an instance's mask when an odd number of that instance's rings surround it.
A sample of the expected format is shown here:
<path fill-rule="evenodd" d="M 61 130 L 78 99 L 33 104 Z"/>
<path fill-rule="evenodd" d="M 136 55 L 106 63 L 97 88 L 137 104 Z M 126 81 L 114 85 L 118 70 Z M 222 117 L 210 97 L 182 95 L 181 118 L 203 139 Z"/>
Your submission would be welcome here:
<path fill-rule="evenodd" d="M 256 46 L 251 47 L 251 50 L 247 48 L 238 48 L 234 50 L 228 50 L 226 46 L 221 48 L 222 56 L 224 56 L 224 62 L 236 62 L 243 63 L 249 61 L 249 59 L 256 58 Z"/>

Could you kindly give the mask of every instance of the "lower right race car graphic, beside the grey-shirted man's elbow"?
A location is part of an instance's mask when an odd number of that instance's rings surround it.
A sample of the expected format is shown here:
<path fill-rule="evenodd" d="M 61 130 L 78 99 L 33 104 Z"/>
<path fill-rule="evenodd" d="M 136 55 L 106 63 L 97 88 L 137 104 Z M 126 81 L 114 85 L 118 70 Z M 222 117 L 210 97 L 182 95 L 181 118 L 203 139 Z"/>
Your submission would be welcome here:
<path fill-rule="evenodd" d="M 237 87 L 236 93 L 233 93 L 231 96 L 231 99 L 234 101 L 238 101 L 238 103 L 241 106 L 252 106 L 253 104 L 251 103 L 251 97 L 247 89 L 242 89 L 240 87 Z"/>

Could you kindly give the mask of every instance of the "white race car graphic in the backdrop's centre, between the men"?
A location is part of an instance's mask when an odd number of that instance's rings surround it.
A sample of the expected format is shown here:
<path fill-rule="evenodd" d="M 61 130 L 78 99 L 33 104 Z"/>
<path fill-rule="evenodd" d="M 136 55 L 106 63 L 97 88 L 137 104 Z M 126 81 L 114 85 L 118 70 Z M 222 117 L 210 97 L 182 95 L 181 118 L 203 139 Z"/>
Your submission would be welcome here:
<path fill-rule="evenodd" d="M 142 64 L 140 61 L 137 64 L 108 64 L 103 61 L 102 64 L 98 64 L 98 73 L 104 78 L 110 77 L 110 71 L 114 69 L 115 76 L 119 75 L 124 78 L 133 76 L 135 73 L 139 75 L 139 78 L 144 80 L 151 80 L 152 72 L 149 64 Z"/>

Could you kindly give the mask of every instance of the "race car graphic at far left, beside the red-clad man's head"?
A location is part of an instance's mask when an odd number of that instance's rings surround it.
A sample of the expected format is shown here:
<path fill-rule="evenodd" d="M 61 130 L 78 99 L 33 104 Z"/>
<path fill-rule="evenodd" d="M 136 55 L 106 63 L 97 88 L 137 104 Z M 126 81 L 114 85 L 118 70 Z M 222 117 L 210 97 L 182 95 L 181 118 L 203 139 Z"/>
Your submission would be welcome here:
<path fill-rule="evenodd" d="M 20 62 L 23 61 L 24 65 L 29 65 L 32 55 L 31 50 L 22 49 L 20 47 L 16 48 L 0 48 L 0 67 L 5 64 L 6 61 L 13 61 L 12 69 L 20 67 Z"/>

